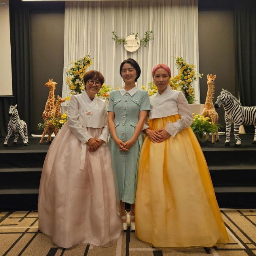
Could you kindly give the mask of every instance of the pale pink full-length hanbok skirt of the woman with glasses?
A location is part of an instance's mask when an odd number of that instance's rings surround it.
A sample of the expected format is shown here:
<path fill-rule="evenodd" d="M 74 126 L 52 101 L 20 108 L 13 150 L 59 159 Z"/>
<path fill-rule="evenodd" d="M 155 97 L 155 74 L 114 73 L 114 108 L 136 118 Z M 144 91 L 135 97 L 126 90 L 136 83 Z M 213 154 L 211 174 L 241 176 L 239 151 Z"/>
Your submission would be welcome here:
<path fill-rule="evenodd" d="M 102 128 L 87 128 L 99 138 Z M 59 247 L 107 247 L 121 238 L 123 224 L 108 144 L 90 153 L 80 170 L 82 142 L 65 123 L 44 161 L 39 189 L 39 229 Z"/>

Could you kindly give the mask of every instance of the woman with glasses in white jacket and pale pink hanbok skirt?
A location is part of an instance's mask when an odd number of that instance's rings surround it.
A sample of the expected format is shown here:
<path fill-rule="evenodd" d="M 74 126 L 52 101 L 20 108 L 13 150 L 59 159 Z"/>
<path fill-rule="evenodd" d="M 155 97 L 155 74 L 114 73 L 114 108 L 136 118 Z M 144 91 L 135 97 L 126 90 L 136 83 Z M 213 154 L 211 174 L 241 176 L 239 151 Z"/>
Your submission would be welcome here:
<path fill-rule="evenodd" d="M 68 121 L 46 155 L 39 189 L 39 229 L 59 247 L 107 247 L 123 225 L 112 169 L 106 102 L 97 98 L 104 77 L 84 77 L 85 91 L 73 95 Z"/>

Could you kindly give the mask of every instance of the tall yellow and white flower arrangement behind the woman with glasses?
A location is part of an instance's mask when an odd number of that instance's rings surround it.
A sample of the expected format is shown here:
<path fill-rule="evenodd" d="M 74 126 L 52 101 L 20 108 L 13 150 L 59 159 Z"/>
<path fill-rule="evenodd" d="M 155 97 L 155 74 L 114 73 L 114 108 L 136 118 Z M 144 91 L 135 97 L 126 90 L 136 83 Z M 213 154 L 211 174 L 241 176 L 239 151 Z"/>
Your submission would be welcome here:
<path fill-rule="evenodd" d="M 83 75 L 86 73 L 87 68 L 93 64 L 93 61 L 90 57 L 90 53 L 85 55 L 83 58 L 78 59 L 76 61 L 71 61 L 69 65 L 73 65 L 66 72 L 66 84 L 70 89 L 70 94 L 80 94 L 84 90 L 83 84 Z M 68 65 L 68 66 L 69 66 Z"/>

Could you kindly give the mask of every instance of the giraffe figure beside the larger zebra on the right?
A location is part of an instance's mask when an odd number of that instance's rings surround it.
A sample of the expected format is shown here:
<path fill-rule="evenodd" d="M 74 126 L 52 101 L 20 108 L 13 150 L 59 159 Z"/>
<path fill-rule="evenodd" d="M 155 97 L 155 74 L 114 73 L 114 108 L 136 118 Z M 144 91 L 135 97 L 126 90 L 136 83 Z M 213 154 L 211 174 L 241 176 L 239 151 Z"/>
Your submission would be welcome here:
<path fill-rule="evenodd" d="M 212 76 L 212 74 L 207 75 L 207 85 L 208 85 L 208 91 L 207 91 L 207 97 L 205 101 L 205 108 L 203 109 L 203 112 L 201 116 L 209 117 L 210 122 L 212 124 L 217 124 L 219 120 L 218 113 L 216 112 L 212 99 L 214 94 L 214 80 L 216 78 L 216 75 Z M 206 141 L 209 141 L 209 134 L 206 135 Z M 219 140 L 218 131 L 216 132 L 216 141 Z M 214 141 L 214 133 L 212 133 L 212 143 L 216 144 Z"/>

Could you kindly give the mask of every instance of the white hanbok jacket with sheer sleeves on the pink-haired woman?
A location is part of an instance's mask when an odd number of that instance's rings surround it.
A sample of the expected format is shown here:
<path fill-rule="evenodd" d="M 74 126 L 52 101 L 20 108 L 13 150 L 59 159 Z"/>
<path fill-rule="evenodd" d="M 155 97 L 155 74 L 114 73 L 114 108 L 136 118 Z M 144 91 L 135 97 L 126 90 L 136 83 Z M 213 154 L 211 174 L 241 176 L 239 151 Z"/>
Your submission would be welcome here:
<path fill-rule="evenodd" d="M 165 130 L 174 137 L 193 122 L 190 106 L 181 91 L 172 90 L 170 86 L 160 95 L 158 92 L 150 97 L 151 110 L 149 119 L 180 115 L 176 122 L 167 122 Z M 148 128 L 144 125 L 143 129 Z"/>

